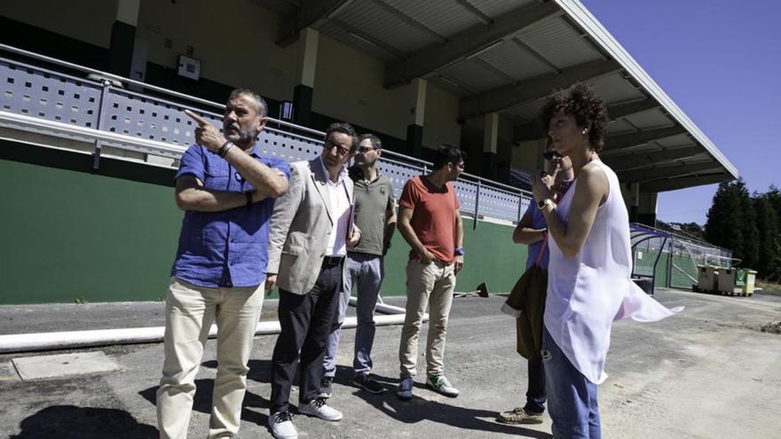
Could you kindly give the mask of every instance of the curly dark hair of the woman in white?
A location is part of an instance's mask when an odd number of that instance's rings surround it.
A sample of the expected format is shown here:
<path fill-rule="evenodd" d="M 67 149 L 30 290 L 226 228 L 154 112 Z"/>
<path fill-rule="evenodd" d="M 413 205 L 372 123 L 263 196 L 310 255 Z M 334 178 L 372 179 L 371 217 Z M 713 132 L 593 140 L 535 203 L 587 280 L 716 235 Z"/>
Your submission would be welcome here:
<path fill-rule="evenodd" d="M 588 144 L 596 153 L 604 147 L 607 129 L 607 106 L 594 90 L 583 82 L 575 82 L 569 89 L 559 90 L 548 98 L 540 110 L 542 131 L 547 133 L 550 120 L 558 114 L 572 114 L 579 127 L 588 129 Z"/>

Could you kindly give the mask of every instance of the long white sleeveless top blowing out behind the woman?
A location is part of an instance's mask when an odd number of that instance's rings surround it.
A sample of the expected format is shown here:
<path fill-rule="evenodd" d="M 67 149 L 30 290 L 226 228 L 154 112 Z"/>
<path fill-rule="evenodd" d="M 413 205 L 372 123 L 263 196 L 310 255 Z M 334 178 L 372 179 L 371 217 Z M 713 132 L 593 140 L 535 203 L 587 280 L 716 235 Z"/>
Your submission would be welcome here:
<path fill-rule="evenodd" d="M 556 239 L 549 239 L 545 327 L 572 365 L 589 381 L 601 384 L 607 378 L 604 358 L 614 320 L 652 322 L 682 308 L 667 310 L 632 281 L 629 216 L 619 178 L 602 161 L 592 163 L 604 171 L 610 193 L 597 208 L 594 225 L 578 255 L 564 256 Z M 556 206 L 556 214 L 564 223 L 577 184 L 575 179 Z"/>

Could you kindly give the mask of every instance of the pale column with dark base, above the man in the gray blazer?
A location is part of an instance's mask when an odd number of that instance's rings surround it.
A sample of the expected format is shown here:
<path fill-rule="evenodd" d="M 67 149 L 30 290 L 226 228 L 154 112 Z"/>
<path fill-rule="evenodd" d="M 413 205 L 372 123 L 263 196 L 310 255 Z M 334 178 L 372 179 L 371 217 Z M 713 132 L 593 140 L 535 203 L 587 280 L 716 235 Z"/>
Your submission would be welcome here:
<path fill-rule="evenodd" d="M 301 68 L 296 77 L 297 85 L 293 89 L 293 122 L 305 127 L 312 125 L 312 94 L 317 69 L 319 35 L 319 32 L 312 27 L 305 27 L 299 32 Z"/>

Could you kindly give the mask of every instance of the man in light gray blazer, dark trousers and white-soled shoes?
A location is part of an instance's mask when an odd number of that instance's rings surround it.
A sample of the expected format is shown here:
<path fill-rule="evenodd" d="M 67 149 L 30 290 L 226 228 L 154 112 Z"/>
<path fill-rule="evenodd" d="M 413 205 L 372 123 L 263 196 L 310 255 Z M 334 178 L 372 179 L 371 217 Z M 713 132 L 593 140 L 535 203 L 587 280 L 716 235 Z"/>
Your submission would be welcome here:
<path fill-rule="evenodd" d="M 349 124 L 332 123 L 322 154 L 290 166 L 288 192 L 274 205 L 266 289 L 280 286 L 281 333 L 272 355 L 269 416 L 277 438 L 297 437 L 288 410 L 296 369 L 298 412 L 342 419 L 342 413 L 319 396 L 319 384 L 328 333 L 347 277 L 346 247 L 360 239 L 352 223 L 352 180 L 344 166 L 357 146 Z"/>

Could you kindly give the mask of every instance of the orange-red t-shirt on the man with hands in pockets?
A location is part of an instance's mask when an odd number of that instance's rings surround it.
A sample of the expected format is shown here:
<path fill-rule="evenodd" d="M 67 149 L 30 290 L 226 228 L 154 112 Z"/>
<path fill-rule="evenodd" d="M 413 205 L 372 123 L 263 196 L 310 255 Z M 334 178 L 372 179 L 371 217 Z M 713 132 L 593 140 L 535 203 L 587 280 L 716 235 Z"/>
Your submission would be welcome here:
<path fill-rule="evenodd" d="M 407 180 L 398 205 L 413 209 L 410 225 L 415 235 L 437 259 L 451 264 L 455 256 L 455 215 L 458 212 L 458 197 L 453 184 L 449 182 L 441 188 L 430 184 L 424 176 L 415 176 Z M 410 259 L 420 255 L 412 249 Z"/>

